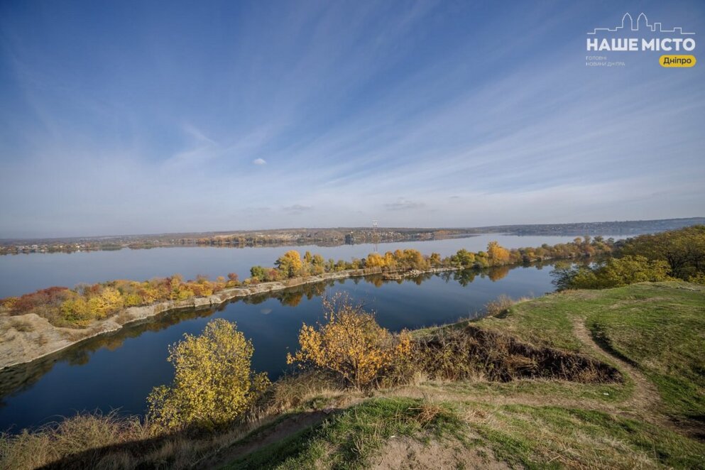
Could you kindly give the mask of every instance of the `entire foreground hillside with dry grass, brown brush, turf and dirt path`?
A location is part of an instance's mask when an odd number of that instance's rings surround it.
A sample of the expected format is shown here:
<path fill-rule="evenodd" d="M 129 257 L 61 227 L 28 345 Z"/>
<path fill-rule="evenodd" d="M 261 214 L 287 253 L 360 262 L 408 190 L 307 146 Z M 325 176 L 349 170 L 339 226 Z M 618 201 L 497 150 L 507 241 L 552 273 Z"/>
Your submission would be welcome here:
<path fill-rule="evenodd" d="M 224 427 L 81 415 L 4 435 L 0 468 L 368 468 L 424 455 L 448 466 L 702 468 L 704 286 L 502 303 L 479 322 L 410 332 L 404 361 L 378 369 L 372 387 L 310 363 Z"/>

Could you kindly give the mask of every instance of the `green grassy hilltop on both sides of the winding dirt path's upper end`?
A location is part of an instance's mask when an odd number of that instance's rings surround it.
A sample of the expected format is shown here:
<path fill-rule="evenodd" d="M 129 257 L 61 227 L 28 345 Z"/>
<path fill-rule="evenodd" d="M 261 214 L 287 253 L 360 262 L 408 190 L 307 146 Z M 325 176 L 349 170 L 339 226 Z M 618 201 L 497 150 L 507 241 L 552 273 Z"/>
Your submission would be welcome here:
<path fill-rule="evenodd" d="M 575 317 L 603 349 L 655 383 L 667 412 L 705 422 L 705 287 L 672 281 L 565 291 L 476 324 L 537 346 L 590 354 L 573 332 Z"/>

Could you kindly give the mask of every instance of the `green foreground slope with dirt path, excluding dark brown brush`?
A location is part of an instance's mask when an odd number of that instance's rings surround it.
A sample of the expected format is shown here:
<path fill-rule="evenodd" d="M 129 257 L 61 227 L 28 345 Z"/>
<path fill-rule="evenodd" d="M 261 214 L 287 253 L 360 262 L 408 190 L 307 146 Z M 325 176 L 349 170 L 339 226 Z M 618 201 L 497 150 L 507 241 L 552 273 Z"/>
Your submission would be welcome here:
<path fill-rule="evenodd" d="M 347 397 L 351 406 L 318 424 L 240 455 L 223 452 L 220 463 L 232 469 L 705 468 L 705 287 L 667 282 L 555 293 L 474 325 L 608 362 L 625 380 L 440 382 L 420 375 L 413 385 L 378 390 L 373 398 Z M 295 411 L 336 403 L 339 395 L 322 394 Z"/>

